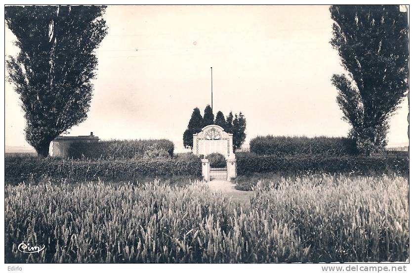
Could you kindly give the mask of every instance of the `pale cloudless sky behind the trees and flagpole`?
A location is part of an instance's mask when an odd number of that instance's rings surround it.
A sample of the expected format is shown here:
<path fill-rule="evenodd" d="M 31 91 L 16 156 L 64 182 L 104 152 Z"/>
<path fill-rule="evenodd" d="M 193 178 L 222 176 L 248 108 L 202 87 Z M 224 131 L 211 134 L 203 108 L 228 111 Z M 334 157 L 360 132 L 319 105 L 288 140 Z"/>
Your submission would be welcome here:
<path fill-rule="evenodd" d="M 108 35 L 88 118 L 69 136 L 168 138 L 182 150 L 195 107 L 242 112 L 258 135 L 346 136 L 331 76 L 345 73 L 329 41 L 329 6 L 108 6 Z M 16 55 L 5 30 L 5 54 Z M 408 145 L 407 98 L 389 144 Z M 5 145 L 29 146 L 18 95 L 5 84 Z"/>

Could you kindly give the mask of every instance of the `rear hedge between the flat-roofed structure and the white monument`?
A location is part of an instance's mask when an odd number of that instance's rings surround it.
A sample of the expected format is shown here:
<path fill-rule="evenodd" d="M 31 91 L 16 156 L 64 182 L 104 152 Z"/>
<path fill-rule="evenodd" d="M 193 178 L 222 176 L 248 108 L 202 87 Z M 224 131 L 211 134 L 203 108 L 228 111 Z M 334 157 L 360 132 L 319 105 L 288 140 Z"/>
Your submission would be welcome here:
<path fill-rule="evenodd" d="M 68 153 L 69 158 L 168 158 L 174 153 L 174 143 L 168 139 L 74 142 Z"/>

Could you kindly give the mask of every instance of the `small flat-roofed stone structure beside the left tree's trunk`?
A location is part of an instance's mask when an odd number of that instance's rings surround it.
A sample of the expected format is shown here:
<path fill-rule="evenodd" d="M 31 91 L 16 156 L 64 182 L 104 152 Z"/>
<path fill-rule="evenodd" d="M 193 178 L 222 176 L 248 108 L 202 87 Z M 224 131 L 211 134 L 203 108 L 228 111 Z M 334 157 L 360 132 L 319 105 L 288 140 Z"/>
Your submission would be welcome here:
<path fill-rule="evenodd" d="M 93 136 L 90 132 L 89 136 L 66 137 L 59 136 L 50 142 L 49 155 L 54 157 L 67 157 L 69 147 L 73 142 L 94 142 L 99 141 L 99 137 Z"/>

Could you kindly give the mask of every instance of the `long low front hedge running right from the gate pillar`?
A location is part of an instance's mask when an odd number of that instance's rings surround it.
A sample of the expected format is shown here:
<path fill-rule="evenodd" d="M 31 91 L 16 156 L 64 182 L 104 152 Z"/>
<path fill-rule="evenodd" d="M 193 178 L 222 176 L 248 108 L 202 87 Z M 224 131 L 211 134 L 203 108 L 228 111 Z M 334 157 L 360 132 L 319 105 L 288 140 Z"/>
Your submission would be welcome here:
<path fill-rule="evenodd" d="M 237 174 L 279 173 L 302 175 L 343 173 L 355 175 L 409 174 L 408 157 L 279 157 L 237 156 Z"/>

